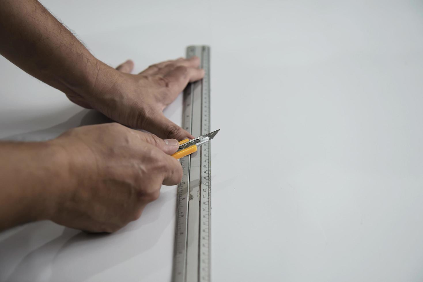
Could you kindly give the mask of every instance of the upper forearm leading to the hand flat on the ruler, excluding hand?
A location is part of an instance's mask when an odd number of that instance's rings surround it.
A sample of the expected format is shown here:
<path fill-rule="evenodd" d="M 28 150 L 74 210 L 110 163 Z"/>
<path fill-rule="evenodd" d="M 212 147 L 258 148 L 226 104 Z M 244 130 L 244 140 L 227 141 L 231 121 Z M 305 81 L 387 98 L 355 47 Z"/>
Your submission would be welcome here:
<path fill-rule="evenodd" d="M 36 0 L 0 0 L 0 54 L 63 92 L 89 91 L 104 68 Z"/>

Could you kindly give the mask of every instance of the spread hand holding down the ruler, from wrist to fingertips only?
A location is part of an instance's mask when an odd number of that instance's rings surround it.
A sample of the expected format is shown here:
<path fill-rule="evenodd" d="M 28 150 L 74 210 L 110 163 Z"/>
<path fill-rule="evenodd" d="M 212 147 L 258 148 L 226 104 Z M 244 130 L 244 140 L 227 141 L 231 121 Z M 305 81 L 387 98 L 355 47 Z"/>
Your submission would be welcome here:
<path fill-rule="evenodd" d="M 91 91 L 66 92 L 68 98 L 85 108 L 95 108 L 107 117 L 162 138 L 194 138 L 171 122 L 163 109 L 176 99 L 188 82 L 203 78 L 198 57 L 180 58 L 151 65 L 145 71 L 130 74 L 130 60 L 116 70 L 99 64 L 96 83 Z"/>

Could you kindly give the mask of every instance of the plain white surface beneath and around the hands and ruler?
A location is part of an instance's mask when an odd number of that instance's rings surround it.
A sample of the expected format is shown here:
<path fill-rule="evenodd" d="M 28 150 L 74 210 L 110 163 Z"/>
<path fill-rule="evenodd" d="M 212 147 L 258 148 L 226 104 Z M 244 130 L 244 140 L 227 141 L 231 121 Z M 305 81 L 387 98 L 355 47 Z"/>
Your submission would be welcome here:
<path fill-rule="evenodd" d="M 423 3 L 43 0 L 139 72 L 211 46 L 213 281 L 423 279 Z M 0 57 L 0 138 L 106 119 Z M 181 99 L 166 110 L 181 122 Z M 176 188 L 93 236 L 0 233 L 1 281 L 170 281 Z"/>

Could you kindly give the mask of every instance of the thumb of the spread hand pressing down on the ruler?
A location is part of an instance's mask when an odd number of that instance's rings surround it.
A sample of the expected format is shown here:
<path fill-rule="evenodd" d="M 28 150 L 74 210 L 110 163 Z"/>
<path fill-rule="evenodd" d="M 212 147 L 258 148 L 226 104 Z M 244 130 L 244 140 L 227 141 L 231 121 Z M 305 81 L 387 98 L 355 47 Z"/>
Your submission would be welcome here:
<path fill-rule="evenodd" d="M 165 139 L 174 138 L 179 141 L 186 138 L 194 139 L 194 136 L 187 130 L 171 122 L 161 111 L 146 117 L 143 122 L 143 129 Z"/>

